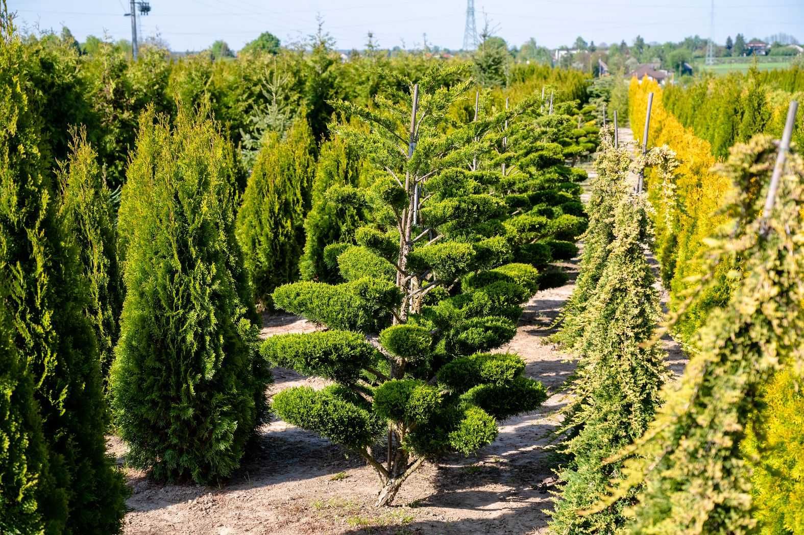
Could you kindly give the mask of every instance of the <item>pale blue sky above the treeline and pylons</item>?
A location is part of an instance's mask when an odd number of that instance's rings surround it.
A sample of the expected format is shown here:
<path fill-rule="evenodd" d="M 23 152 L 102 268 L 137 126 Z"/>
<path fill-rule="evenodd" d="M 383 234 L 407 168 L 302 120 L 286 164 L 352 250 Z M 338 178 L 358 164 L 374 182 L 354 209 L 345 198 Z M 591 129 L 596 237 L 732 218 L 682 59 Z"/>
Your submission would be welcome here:
<path fill-rule="evenodd" d="M 239 50 L 262 31 L 285 43 L 304 39 L 324 27 L 338 48 L 363 47 L 373 31 L 381 47 L 428 43 L 457 49 L 463 42 L 466 0 L 150 0 L 151 13 L 140 18 L 140 35 L 161 35 L 177 51 L 201 50 L 224 39 Z M 123 14 L 127 0 L 8 0 L 18 25 L 59 31 L 64 25 L 76 39 L 87 35 L 130 39 Z M 578 35 L 595 43 L 613 43 L 636 35 L 647 41 L 679 41 L 709 35 L 710 0 L 475 0 L 478 31 L 484 15 L 496 34 L 520 45 L 530 37 L 547 47 L 571 44 Z M 804 0 L 716 0 L 714 38 L 723 43 L 737 33 L 765 38 L 779 32 L 804 41 Z"/>

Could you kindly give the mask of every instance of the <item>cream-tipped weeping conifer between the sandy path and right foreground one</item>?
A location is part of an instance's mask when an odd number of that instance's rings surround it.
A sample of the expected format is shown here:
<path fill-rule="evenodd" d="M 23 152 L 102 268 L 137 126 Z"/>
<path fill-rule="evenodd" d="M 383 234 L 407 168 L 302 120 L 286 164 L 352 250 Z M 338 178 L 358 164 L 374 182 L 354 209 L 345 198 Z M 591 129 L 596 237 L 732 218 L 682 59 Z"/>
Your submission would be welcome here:
<path fill-rule="evenodd" d="M 621 463 L 603 459 L 642 436 L 667 377 L 664 352 L 641 345 L 653 335 L 661 311 L 645 257 L 652 241 L 646 206 L 644 193 L 621 197 L 608 259 L 579 319 L 580 363 L 564 420 L 572 437 L 564 443 L 570 458 L 559 472 L 564 487 L 552 512 L 554 533 L 616 533 L 624 524 L 627 500 L 593 515 L 579 512 L 605 497 L 609 479 L 619 477 Z"/>

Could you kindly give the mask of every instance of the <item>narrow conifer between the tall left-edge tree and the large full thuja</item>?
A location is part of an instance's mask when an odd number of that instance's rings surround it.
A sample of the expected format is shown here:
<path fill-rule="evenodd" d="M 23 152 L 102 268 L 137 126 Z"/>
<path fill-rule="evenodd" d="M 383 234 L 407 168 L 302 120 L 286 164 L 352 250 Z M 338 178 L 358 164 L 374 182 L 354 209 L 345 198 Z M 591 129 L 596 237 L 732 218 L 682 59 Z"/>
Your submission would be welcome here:
<path fill-rule="evenodd" d="M 64 187 L 61 214 L 68 234 L 80 251 L 88 279 L 88 307 L 100 353 L 100 376 L 108 389 L 109 368 L 120 334 L 118 319 L 123 306 L 123 288 L 117 267 L 115 215 L 109 188 L 97 163 L 97 155 L 76 130 L 68 162 L 61 164 L 59 179 Z"/>

